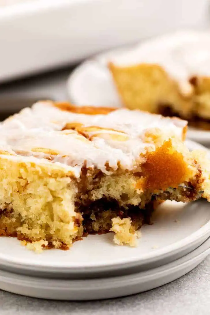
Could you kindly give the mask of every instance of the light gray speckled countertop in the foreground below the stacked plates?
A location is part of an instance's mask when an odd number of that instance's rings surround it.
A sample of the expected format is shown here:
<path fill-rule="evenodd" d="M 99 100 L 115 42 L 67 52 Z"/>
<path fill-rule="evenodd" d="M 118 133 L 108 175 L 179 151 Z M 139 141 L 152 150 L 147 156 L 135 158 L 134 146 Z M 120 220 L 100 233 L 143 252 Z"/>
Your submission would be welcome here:
<path fill-rule="evenodd" d="M 0 315 L 205 315 L 210 314 L 210 258 L 160 288 L 104 301 L 63 302 L 0 291 Z"/>

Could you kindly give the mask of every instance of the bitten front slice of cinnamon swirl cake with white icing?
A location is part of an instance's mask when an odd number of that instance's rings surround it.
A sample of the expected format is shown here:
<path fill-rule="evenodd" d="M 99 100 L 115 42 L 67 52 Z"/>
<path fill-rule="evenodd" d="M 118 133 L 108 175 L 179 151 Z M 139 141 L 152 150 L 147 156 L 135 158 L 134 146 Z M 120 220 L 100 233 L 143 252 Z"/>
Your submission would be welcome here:
<path fill-rule="evenodd" d="M 158 203 L 210 200 L 209 162 L 187 122 L 40 101 L 0 125 L 0 233 L 31 249 L 115 232 L 134 246 Z"/>

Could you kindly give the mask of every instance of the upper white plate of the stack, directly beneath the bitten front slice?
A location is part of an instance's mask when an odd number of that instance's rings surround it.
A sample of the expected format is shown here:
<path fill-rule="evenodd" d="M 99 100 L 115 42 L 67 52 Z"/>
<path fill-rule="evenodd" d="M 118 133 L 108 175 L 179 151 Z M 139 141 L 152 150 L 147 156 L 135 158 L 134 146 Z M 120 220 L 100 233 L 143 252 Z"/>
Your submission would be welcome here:
<path fill-rule="evenodd" d="M 187 141 L 190 149 L 202 146 Z M 208 151 L 209 152 L 209 151 Z M 139 246 L 113 243 L 113 234 L 90 235 L 71 250 L 51 249 L 35 254 L 14 238 L 0 238 L 0 269 L 45 277 L 96 277 L 124 269 L 146 269 L 188 254 L 210 236 L 210 206 L 198 201 L 165 203 L 156 212 L 153 225 L 143 226 Z M 128 270 L 128 272 L 130 272 Z"/>

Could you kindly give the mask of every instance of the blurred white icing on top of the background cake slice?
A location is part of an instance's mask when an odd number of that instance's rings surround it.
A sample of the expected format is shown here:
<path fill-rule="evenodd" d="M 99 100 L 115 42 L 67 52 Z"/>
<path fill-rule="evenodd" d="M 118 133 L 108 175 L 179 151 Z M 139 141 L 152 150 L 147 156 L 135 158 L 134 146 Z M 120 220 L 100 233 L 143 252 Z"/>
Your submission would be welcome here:
<path fill-rule="evenodd" d="M 179 31 L 156 37 L 110 56 L 109 61 L 119 66 L 158 64 L 180 83 L 182 92 L 188 94 L 191 76 L 210 77 L 210 31 Z"/>

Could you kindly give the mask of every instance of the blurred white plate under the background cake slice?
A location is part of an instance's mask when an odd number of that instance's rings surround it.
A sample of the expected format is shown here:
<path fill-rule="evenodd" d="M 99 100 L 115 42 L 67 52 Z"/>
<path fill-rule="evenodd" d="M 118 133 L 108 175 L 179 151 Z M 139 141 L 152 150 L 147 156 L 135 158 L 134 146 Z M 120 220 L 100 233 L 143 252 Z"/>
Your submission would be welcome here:
<path fill-rule="evenodd" d="M 130 49 L 131 47 L 127 47 Z M 122 107 L 107 62 L 117 59 L 125 48 L 111 50 L 86 60 L 70 75 L 67 82 L 69 99 L 76 105 Z M 189 128 L 187 137 L 210 145 L 210 131 Z"/>

